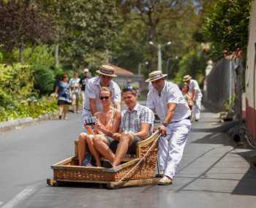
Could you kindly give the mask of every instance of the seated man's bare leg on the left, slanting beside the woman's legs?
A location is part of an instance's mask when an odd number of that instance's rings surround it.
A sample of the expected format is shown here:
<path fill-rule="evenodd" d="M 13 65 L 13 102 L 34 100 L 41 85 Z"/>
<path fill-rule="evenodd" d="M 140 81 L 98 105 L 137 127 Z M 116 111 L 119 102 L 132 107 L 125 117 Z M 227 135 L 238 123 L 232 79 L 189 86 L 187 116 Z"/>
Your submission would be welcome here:
<path fill-rule="evenodd" d="M 94 147 L 99 151 L 101 155 L 107 158 L 111 163 L 113 163 L 115 155 L 108 147 L 108 144 L 104 142 L 99 136 L 94 136 Z"/>

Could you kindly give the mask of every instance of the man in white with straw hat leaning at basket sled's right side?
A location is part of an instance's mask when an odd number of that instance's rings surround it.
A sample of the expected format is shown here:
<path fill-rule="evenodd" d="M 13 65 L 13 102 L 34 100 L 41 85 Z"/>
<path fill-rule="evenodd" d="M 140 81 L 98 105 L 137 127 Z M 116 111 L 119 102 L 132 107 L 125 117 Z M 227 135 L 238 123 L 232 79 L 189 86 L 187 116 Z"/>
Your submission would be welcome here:
<path fill-rule="evenodd" d="M 146 82 L 151 82 L 153 88 L 148 92 L 147 107 L 157 113 L 162 123 L 158 160 L 163 177 L 159 185 L 170 185 L 187 142 L 191 112 L 178 85 L 165 81 L 167 74 L 154 71 L 148 76 Z"/>

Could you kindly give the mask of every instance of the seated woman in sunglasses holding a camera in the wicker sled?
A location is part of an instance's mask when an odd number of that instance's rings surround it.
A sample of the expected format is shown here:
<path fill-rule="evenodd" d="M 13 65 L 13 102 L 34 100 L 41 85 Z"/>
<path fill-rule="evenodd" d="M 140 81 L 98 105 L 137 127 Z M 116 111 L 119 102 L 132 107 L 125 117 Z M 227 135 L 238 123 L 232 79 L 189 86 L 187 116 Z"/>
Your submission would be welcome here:
<path fill-rule="evenodd" d="M 83 158 L 86 155 L 86 144 L 89 147 L 91 155 L 94 156 L 97 166 L 101 166 L 99 152 L 94 148 L 93 139 L 102 139 L 106 145 L 110 145 L 113 139 L 110 136 L 103 134 L 104 132 L 117 132 L 120 122 L 121 113 L 118 109 L 111 106 L 111 90 L 107 87 L 102 87 L 99 90 L 99 99 L 102 101 L 102 111 L 95 113 L 97 117 L 97 123 L 93 126 L 94 130 L 90 126 L 85 126 L 89 134 L 81 133 L 78 137 L 78 161 L 79 165 L 82 165 Z"/>

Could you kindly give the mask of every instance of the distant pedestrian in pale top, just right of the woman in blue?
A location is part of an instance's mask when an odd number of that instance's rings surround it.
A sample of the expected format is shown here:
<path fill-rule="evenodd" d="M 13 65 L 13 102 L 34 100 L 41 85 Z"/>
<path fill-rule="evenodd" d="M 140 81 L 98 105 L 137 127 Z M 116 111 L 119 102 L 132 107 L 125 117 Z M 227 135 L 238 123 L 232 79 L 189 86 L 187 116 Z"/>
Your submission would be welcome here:
<path fill-rule="evenodd" d="M 80 78 L 78 77 L 78 72 L 73 74 L 73 77 L 69 80 L 69 85 L 71 88 L 72 112 L 78 113 L 80 94 Z"/>

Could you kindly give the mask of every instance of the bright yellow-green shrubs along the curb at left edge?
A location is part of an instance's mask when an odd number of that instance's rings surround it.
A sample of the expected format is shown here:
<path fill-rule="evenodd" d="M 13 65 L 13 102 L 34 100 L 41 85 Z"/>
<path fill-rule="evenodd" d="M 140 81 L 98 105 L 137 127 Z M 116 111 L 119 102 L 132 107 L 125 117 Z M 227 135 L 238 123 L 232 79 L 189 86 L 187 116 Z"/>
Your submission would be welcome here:
<path fill-rule="evenodd" d="M 0 64 L 0 121 L 23 117 L 37 117 L 57 108 L 55 99 L 34 96 L 34 73 L 30 66 L 20 63 Z"/>

